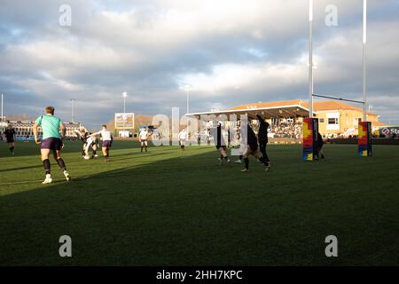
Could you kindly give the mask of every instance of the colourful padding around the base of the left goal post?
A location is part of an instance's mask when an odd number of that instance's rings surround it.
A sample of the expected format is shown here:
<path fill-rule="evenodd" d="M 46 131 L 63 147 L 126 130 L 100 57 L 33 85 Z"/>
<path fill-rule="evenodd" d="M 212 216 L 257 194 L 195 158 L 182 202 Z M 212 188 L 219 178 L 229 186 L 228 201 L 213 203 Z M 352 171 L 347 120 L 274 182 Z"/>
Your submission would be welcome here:
<path fill-rule="evenodd" d="M 317 156 L 317 118 L 303 119 L 303 161 L 313 161 Z"/>

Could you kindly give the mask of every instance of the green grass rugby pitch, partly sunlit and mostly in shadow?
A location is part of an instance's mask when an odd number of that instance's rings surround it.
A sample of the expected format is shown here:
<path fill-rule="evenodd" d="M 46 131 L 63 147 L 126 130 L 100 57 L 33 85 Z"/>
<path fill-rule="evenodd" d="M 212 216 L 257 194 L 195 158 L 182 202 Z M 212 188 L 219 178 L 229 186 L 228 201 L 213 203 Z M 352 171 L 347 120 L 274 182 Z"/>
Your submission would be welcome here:
<path fill-rule="evenodd" d="M 43 180 L 39 150 L 0 144 L 0 265 L 399 264 L 399 148 L 269 146 L 272 169 L 220 166 L 214 146 L 150 147 L 115 141 L 112 162 L 84 161 L 81 143 Z M 73 257 L 59 256 L 70 235 Z M 338 257 L 325 256 L 325 237 Z"/>

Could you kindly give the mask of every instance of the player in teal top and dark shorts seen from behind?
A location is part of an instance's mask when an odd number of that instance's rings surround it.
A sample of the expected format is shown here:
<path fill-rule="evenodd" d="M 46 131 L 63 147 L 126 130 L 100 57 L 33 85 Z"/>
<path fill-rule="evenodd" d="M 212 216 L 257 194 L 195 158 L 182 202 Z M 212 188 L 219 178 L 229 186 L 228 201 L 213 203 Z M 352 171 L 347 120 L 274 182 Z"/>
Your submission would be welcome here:
<path fill-rule="evenodd" d="M 43 140 L 38 138 L 38 127 L 42 127 Z M 49 160 L 50 153 L 52 151 L 54 158 L 59 164 L 59 168 L 64 173 L 66 180 L 71 180 L 71 176 L 66 171 L 66 165 L 64 160 L 61 158 L 61 149 L 64 147 L 62 142 L 65 138 L 66 127 L 59 117 L 54 116 L 54 107 L 47 106 L 46 114 L 39 116 L 33 126 L 33 131 L 35 135 L 35 143 L 41 144 L 41 154 L 42 162 L 44 166 L 44 172 L 46 173 L 46 178 L 43 181 L 43 185 L 51 184 L 51 164 Z"/>

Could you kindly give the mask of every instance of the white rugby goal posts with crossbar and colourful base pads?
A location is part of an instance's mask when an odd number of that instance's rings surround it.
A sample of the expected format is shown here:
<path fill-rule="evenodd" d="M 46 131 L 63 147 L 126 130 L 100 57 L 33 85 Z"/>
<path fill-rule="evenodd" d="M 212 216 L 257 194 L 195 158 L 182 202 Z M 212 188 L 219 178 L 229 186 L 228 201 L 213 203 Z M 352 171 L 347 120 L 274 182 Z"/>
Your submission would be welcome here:
<path fill-rule="evenodd" d="M 358 154 L 372 155 L 372 123 L 367 122 L 366 97 L 366 44 L 367 44 L 367 0 L 363 0 L 363 100 L 342 99 L 331 96 L 315 95 L 313 88 L 313 0 L 309 0 L 309 118 L 304 118 L 303 127 L 303 154 L 304 161 L 313 161 L 318 155 L 317 133 L 318 120 L 313 117 L 313 97 L 337 99 L 363 104 L 363 121 L 358 124 Z"/>

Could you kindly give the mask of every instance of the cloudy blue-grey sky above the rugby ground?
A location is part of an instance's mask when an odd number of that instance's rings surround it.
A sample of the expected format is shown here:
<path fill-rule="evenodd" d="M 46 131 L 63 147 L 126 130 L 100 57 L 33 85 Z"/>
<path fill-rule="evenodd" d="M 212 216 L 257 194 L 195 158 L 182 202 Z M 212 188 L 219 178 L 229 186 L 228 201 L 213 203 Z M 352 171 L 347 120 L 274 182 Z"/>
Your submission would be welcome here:
<path fill-rule="evenodd" d="M 368 99 L 399 123 L 399 1 L 369 0 Z M 70 27 L 59 24 L 62 4 Z M 325 7 L 338 26 L 325 25 Z M 316 0 L 315 92 L 362 98 L 362 0 Z M 123 111 L 308 98 L 308 0 L 0 0 L 5 114 L 56 106 L 90 127 Z M 65 18 L 61 18 L 65 19 Z"/>

